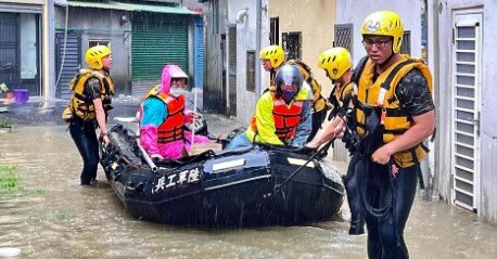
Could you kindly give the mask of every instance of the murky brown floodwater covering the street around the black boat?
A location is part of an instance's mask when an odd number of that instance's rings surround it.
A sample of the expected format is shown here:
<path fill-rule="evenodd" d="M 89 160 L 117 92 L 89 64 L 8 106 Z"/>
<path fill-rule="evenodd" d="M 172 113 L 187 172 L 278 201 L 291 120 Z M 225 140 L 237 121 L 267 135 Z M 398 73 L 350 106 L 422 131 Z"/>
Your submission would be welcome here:
<path fill-rule="evenodd" d="M 211 125 L 209 125 L 211 127 Z M 79 186 L 81 161 L 65 127 L 0 134 L 1 165 L 16 165 L 22 195 L 0 196 L 0 248 L 18 258 L 366 258 L 366 235 L 336 221 L 307 226 L 204 230 L 135 220 L 99 171 Z M 494 258 L 497 228 L 420 197 L 406 229 L 411 258 Z M 1 256 L 0 256 L 1 257 Z"/>

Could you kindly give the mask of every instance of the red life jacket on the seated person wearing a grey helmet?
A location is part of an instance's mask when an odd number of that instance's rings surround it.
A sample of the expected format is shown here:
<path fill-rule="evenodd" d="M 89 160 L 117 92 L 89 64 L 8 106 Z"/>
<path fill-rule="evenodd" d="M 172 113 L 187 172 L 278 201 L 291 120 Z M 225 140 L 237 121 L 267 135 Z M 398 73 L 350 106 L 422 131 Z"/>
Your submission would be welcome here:
<path fill-rule="evenodd" d="M 295 134 L 295 129 L 301 121 L 303 101 L 294 101 L 290 106 L 283 99 L 273 99 L 272 117 L 275 119 L 276 135 L 285 144 Z"/>

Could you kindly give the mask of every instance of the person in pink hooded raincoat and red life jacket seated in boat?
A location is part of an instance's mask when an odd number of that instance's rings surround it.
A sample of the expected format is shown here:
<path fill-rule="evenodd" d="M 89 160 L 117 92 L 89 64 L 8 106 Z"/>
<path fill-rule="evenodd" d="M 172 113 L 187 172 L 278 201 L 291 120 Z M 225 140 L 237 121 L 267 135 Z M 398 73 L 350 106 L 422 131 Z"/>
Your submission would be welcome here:
<path fill-rule="evenodd" d="M 174 94 L 171 88 L 184 88 L 188 76 L 177 65 L 166 65 L 161 85 L 153 87 L 141 103 L 140 144 L 155 159 L 178 159 L 191 150 L 192 134 L 184 124 L 199 119 L 199 114 L 186 106 L 184 94 Z M 208 143 L 203 135 L 194 135 L 194 143 Z"/>

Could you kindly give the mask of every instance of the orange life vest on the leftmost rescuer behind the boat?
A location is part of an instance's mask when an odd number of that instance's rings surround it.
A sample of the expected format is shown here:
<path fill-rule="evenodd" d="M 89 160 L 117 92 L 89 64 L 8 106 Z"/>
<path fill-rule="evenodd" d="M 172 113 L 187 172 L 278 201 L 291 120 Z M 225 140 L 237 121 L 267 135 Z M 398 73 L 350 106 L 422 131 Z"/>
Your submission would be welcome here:
<path fill-rule="evenodd" d="M 73 92 L 71 96 L 71 109 L 77 117 L 84 120 L 92 120 L 95 118 L 93 100 L 85 95 L 85 85 L 90 78 L 97 78 L 100 82 L 100 99 L 102 100 L 102 106 L 105 113 L 112 109 L 114 82 L 111 76 L 109 74 L 103 76 L 95 70 L 80 69 L 69 82 Z"/>

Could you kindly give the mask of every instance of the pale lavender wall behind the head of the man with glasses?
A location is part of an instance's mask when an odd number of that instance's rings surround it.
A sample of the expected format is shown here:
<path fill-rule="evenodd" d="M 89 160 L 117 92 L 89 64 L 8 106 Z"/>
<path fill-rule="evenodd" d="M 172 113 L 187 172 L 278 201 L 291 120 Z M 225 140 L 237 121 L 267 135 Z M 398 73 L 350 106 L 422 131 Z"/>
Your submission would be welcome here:
<path fill-rule="evenodd" d="M 410 30 L 411 55 L 421 56 L 421 0 L 337 0 L 336 1 L 336 24 L 354 24 L 354 47 L 353 59 L 357 63 L 366 51 L 362 47 L 362 37 L 359 28 L 366 16 L 372 12 L 381 10 L 392 10 L 404 22 L 404 29 Z"/>

